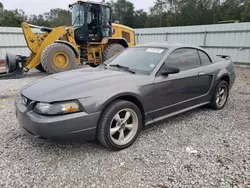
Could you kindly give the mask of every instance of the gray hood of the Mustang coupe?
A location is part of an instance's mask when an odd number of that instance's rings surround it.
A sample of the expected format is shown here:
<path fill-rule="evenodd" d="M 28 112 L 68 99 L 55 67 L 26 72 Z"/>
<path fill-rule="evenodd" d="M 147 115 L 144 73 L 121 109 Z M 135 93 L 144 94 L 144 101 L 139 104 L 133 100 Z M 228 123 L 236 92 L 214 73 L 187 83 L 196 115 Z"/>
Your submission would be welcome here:
<path fill-rule="evenodd" d="M 30 100 L 56 102 L 102 95 L 145 82 L 147 75 L 104 68 L 84 68 L 45 77 L 25 86 L 21 93 Z"/>

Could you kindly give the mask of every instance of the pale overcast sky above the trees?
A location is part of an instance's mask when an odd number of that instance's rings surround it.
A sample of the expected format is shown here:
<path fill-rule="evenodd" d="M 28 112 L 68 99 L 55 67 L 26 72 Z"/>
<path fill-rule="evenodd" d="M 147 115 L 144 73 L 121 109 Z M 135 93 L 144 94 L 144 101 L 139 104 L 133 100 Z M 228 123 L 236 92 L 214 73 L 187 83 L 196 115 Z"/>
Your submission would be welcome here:
<path fill-rule="evenodd" d="M 22 9 L 26 14 L 42 14 L 49 12 L 51 8 L 68 9 L 70 3 L 76 0 L 0 0 L 5 9 Z M 101 0 L 94 0 L 101 2 Z M 149 10 L 153 5 L 153 0 L 129 0 L 134 3 L 135 9 Z"/>

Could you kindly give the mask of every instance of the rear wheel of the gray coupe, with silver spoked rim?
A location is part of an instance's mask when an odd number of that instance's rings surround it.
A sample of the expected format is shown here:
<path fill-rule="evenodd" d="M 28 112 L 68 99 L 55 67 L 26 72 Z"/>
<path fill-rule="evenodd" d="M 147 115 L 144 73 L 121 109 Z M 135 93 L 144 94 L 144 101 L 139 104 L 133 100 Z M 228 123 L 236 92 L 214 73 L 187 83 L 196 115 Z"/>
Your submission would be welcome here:
<path fill-rule="evenodd" d="M 229 95 L 229 86 L 228 83 L 224 80 L 221 80 L 212 96 L 210 107 L 213 110 L 221 110 L 225 107 Z"/>

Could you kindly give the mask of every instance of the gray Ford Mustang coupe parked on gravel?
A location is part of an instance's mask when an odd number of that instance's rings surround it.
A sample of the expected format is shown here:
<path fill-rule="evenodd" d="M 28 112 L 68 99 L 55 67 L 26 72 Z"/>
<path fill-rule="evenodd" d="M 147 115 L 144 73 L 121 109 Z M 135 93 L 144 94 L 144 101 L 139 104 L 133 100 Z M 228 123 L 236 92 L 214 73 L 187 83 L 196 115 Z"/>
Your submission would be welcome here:
<path fill-rule="evenodd" d="M 227 56 L 190 45 L 147 44 L 128 48 L 97 68 L 27 85 L 16 99 L 16 114 L 36 139 L 97 139 L 120 150 L 145 125 L 204 105 L 222 109 L 234 81 L 234 64 Z"/>

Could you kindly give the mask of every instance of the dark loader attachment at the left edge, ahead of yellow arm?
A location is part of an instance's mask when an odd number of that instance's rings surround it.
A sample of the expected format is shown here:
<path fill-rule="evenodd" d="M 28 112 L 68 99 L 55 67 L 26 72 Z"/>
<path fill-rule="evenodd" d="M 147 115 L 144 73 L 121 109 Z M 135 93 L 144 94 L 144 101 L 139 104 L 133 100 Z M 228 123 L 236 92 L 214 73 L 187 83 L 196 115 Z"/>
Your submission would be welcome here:
<path fill-rule="evenodd" d="M 0 79 L 15 79 L 21 78 L 25 75 L 23 66 L 26 57 L 20 55 L 6 54 L 5 58 L 5 72 L 0 73 Z"/>

